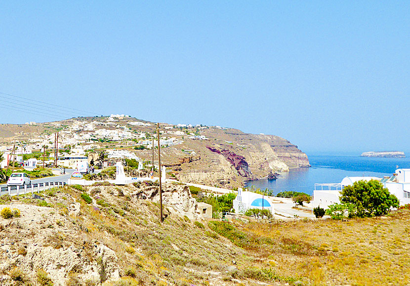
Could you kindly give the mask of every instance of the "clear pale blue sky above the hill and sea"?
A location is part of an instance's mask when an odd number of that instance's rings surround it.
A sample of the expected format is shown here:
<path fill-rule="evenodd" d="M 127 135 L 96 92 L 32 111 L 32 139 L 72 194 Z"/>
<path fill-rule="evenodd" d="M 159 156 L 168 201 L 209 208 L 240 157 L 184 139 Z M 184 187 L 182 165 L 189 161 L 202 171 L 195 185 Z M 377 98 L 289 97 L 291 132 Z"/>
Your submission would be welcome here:
<path fill-rule="evenodd" d="M 409 3 L 1 1 L 0 92 L 307 152 L 406 151 Z M 53 120 L 0 100 L 1 123 Z"/>

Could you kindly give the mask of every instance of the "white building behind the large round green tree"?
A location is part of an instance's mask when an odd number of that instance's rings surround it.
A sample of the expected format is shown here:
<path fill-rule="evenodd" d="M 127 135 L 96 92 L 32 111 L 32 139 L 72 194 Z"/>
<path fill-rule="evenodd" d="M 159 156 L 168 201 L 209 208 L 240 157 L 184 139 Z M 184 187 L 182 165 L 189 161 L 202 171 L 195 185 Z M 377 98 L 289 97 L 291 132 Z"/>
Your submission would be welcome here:
<path fill-rule="evenodd" d="M 397 169 L 395 174 L 386 178 L 346 177 L 340 183 L 315 184 L 312 206 L 327 209 L 329 205 L 340 203 L 340 192 L 345 186 L 353 185 L 359 180 L 371 179 L 379 180 L 383 187 L 397 197 L 400 205 L 410 204 L 410 169 Z"/>

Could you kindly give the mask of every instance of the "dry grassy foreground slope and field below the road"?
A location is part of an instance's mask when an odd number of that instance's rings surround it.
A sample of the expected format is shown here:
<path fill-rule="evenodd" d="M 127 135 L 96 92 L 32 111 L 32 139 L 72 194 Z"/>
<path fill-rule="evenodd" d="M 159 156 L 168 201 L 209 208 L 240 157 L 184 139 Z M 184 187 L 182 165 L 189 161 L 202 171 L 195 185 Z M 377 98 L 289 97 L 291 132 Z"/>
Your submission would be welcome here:
<path fill-rule="evenodd" d="M 1 285 L 408 285 L 409 210 L 350 221 L 200 223 L 168 204 L 160 223 L 158 197 L 141 198 L 155 188 L 73 186 L 41 193 L 44 200 L 0 197 L 0 210 L 21 212 L 0 218 Z M 184 185 L 164 185 L 165 196 L 176 194 L 192 200 Z"/>

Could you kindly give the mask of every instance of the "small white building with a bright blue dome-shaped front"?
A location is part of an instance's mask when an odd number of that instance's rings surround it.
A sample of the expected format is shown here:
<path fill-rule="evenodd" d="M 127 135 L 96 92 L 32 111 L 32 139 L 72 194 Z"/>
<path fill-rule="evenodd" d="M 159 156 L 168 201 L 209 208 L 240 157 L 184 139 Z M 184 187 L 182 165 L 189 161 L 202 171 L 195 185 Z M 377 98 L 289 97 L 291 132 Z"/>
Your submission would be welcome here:
<path fill-rule="evenodd" d="M 238 188 L 238 195 L 234 199 L 235 213 L 243 214 L 248 209 L 265 209 L 270 210 L 272 214 L 275 213 L 273 203 L 267 196 L 244 192 L 242 188 Z"/>

